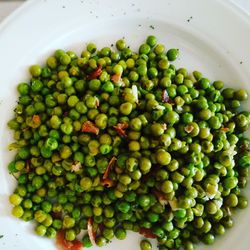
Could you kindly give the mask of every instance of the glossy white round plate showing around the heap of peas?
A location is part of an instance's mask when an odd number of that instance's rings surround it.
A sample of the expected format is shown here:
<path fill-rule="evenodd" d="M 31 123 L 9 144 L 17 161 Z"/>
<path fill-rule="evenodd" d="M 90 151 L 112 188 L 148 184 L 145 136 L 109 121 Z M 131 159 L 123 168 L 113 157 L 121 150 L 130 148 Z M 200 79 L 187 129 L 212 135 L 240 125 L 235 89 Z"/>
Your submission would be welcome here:
<path fill-rule="evenodd" d="M 57 48 L 80 52 L 86 42 L 110 46 L 125 37 L 136 49 L 154 34 L 167 47 L 181 51 L 178 66 L 200 70 L 212 80 L 250 90 L 250 21 L 228 1 L 199 0 L 33 0 L 0 26 L 0 249 L 56 249 L 51 240 L 34 235 L 31 223 L 13 219 L 8 195 L 14 187 L 6 165 L 13 153 L 6 122 L 16 101 L 15 86 L 28 79 L 30 64 L 43 63 Z M 249 103 L 248 103 L 249 106 Z M 247 193 L 250 197 L 249 192 Z M 240 211 L 236 225 L 211 247 L 248 250 L 250 208 Z M 141 236 L 129 234 L 103 249 L 138 249 Z M 95 249 L 95 248 L 93 248 Z M 155 247 L 156 249 L 156 247 Z"/>

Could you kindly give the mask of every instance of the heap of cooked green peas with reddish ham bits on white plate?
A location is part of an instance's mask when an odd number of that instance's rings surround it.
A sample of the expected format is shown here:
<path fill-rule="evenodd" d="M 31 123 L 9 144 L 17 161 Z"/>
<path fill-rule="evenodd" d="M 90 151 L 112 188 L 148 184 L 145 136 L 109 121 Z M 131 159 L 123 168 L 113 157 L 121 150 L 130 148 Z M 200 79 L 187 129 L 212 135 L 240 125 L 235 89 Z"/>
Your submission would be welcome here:
<path fill-rule="evenodd" d="M 192 250 L 232 227 L 247 206 L 248 95 L 176 69 L 178 55 L 151 35 L 138 52 L 124 39 L 116 49 L 89 43 L 79 57 L 56 50 L 31 66 L 8 122 L 12 214 L 67 241 L 91 219 L 100 247 L 131 230 L 161 250 Z M 140 247 L 152 248 L 146 239 Z"/>

